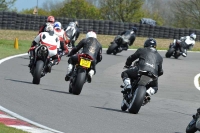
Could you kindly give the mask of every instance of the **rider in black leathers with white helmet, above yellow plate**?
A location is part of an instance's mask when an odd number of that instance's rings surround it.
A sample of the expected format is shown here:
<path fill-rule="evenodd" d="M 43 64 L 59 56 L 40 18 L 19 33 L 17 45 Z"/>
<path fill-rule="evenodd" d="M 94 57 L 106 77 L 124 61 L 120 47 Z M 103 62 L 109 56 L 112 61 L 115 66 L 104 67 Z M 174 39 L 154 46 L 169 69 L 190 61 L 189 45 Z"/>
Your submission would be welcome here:
<path fill-rule="evenodd" d="M 102 60 L 102 46 L 97 40 L 97 35 L 95 32 L 90 31 L 86 34 L 86 38 L 82 39 L 77 46 L 75 46 L 72 51 L 68 54 L 71 56 L 68 60 L 68 71 L 65 76 L 65 81 L 69 81 L 72 74 L 74 65 L 78 62 L 78 55 L 76 54 L 82 48 L 81 53 L 90 55 L 94 60 L 92 61 L 91 70 L 88 75 L 88 83 L 91 83 L 92 76 L 96 73 L 95 66 Z M 74 56 L 72 56 L 74 55 Z"/>

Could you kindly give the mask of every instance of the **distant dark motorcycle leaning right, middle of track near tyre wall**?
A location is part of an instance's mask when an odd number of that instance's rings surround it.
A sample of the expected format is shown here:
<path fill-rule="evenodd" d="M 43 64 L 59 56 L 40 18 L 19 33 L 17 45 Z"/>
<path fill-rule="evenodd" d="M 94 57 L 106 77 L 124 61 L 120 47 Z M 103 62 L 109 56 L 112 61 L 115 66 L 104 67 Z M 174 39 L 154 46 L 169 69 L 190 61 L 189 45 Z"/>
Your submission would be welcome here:
<path fill-rule="evenodd" d="M 126 32 L 124 35 L 120 36 L 117 35 L 115 39 L 110 43 L 110 46 L 108 47 L 106 53 L 107 54 L 114 54 L 116 55 L 117 53 L 122 52 L 123 50 L 127 50 L 125 48 L 129 43 L 129 38 L 131 36 L 131 31 Z"/>

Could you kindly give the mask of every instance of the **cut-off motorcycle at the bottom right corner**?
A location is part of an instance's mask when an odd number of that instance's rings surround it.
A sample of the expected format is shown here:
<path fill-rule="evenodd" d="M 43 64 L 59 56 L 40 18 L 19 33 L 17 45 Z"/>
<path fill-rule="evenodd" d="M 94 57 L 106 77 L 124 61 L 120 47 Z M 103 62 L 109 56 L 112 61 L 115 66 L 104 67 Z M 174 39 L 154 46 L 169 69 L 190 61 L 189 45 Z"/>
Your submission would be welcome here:
<path fill-rule="evenodd" d="M 186 133 L 195 133 L 200 131 L 200 108 L 197 109 L 197 113 L 193 115 L 192 121 L 186 127 Z"/>

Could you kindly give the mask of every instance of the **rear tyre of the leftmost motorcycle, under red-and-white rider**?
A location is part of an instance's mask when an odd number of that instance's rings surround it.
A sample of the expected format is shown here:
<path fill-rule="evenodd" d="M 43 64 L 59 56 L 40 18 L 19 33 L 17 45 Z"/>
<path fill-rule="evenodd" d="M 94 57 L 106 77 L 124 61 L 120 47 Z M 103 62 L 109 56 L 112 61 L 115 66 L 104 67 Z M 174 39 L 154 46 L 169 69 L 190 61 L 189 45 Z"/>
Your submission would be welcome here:
<path fill-rule="evenodd" d="M 41 79 L 41 72 L 44 66 L 44 62 L 39 60 L 36 63 L 36 66 L 34 68 L 34 72 L 33 72 L 33 84 L 40 84 L 40 79 Z"/>

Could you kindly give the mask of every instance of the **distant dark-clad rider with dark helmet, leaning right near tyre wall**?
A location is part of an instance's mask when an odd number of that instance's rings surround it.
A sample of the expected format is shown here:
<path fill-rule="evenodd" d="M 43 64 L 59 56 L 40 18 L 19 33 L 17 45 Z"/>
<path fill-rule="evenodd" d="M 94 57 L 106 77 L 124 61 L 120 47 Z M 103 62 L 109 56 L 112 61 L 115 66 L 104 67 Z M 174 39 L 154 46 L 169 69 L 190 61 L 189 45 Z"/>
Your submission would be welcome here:
<path fill-rule="evenodd" d="M 125 35 L 126 33 L 131 33 L 130 38 L 129 38 L 129 43 L 125 44 L 122 47 L 119 47 L 119 51 L 122 50 L 127 50 L 129 48 L 129 46 L 133 45 L 135 38 L 136 38 L 136 33 L 137 33 L 137 27 L 132 27 L 130 30 L 125 30 L 123 31 L 120 36 Z M 117 36 L 118 38 L 119 36 Z M 119 39 L 116 38 L 116 41 L 120 41 Z M 119 42 L 120 43 L 120 42 Z"/>

